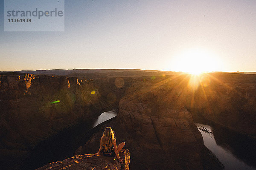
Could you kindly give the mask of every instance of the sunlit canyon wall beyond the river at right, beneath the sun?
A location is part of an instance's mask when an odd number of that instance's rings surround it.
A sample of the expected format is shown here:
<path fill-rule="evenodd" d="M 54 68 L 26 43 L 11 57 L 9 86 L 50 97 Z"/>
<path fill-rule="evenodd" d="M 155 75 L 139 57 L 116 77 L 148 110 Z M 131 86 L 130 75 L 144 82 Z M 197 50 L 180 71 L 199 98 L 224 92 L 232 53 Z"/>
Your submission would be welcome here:
<path fill-rule="evenodd" d="M 181 97 L 194 120 L 206 119 L 256 139 L 256 75 L 204 74 L 193 91 Z M 185 85 L 184 85 L 185 86 Z"/>

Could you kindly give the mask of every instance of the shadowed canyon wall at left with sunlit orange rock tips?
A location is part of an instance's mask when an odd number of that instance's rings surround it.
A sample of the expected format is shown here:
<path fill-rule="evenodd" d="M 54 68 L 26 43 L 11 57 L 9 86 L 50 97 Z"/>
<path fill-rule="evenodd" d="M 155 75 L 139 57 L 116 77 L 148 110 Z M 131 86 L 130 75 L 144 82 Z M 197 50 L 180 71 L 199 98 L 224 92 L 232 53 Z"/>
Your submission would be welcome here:
<path fill-rule="evenodd" d="M 38 142 L 98 116 L 113 103 L 101 96 L 91 79 L 1 75 L 0 167 L 5 164 L 9 167 L 4 160 L 14 159 L 20 164 L 24 155 Z"/>

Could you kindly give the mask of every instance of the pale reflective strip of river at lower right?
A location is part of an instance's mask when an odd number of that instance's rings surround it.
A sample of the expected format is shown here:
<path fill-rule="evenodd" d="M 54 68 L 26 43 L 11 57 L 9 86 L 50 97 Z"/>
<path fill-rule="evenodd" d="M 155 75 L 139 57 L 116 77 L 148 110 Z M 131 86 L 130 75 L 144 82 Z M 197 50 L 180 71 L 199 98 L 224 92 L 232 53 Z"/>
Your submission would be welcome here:
<path fill-rule="evenodd" d="M 215 156 L 218 157 L 221 163 L 225 166 L 226 170 L 256 170 L 256 167 L 248 165 L 247 163 L 245 163 L 246 160 L 242 160 L 239 158 L 239 155 L 234 154 L 236 153 L 236 150 L 240 150 L 241 148 L 231 147 L 230 144 L 215 139 L 215 133 L 218 132 L 215 131 L 211 126 L 203 125 L 200 123 L 195 123 L 195 125 L 198 127 L 198 130 L 201 132 L 203 136 L 204 145 L 209 150 L 211 150 L 212 153 L 215 154 Z M 234 144 L 234 146 L 241 147 L 239 143 Z M 256 153 L 250 153 L 250 151 L 248 151 L 248 154 L 252 154 L 251 156 L 254 155 L 255 159 Z M 250 160 L 248 160 L 248 162 L 250 162 Z"/>

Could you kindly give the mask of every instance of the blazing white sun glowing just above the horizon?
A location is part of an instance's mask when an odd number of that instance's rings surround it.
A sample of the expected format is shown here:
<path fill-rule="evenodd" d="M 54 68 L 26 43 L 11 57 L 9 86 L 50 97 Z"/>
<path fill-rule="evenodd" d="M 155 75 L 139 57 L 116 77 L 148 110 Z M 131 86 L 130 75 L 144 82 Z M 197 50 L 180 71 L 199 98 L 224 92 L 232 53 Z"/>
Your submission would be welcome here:
<path fill-rule="evenodd" d="M 172 70 L 199 75 L 208 71 L 218 71 L 218 57 L 203 49 L 189 49 L 175 56 Z"/>

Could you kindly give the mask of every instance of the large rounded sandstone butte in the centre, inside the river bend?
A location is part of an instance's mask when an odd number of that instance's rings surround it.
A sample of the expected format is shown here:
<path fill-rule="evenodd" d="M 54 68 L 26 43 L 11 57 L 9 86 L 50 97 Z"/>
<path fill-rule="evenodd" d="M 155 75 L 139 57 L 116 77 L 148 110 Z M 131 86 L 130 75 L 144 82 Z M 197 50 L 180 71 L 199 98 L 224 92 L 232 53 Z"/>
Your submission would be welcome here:
<path fill-rule="evenodd" d="M 111 126 L 117 143 L 123 140 L 130 148 L 131 169 L 222 169 L 217 162 L 215 168 L 205 164 L 201 133 L 174 85 L 166 77 L 134 82 L 119 102 L 117 120 L 102 127 L 76 154 L 99 149 L 104 128 Z"/>

